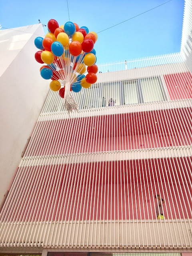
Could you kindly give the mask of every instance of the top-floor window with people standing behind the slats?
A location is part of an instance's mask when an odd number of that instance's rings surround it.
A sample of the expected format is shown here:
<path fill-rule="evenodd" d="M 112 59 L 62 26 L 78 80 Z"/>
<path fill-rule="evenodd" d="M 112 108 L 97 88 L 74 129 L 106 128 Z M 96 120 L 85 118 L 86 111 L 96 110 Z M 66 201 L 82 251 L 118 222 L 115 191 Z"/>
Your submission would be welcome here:
<path fill-rule="evenodd" d="M 103 84 L 102 107 L 120 105 L 119 82 L 108 82 Z"/>

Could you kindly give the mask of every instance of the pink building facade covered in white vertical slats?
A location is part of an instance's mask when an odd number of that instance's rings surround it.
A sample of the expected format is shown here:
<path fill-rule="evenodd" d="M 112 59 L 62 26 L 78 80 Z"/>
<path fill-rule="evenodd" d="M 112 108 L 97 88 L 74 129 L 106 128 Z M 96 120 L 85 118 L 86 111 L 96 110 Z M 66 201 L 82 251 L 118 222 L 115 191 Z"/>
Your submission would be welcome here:
<path fill-rule="evenodd" d="M 181 52 L 49 92 L 0 212 L 0 252 L 192 252 L 192 1 Z M 164 200 L 163 219 L 155 195 Z"/>

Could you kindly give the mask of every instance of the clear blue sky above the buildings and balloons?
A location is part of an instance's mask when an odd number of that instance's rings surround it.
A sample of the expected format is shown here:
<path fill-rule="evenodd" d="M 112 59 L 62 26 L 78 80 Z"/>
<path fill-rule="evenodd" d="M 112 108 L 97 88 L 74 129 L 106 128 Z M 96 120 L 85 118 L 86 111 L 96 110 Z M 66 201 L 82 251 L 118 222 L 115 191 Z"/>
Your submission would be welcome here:
<path fill-rule="evenodd" d="M 166 0 L 68 0 L 70 21 L 99 32 Z M 184 0 L 172 0 L 150 12 L 98 33 L 95 44 L 98 63 L 128 60 L 180 51 Z M 67 2 L 59 0 L 7 0 L 1 3 L 2 27 L 16 28 L 68 21 Z M 47 27 L 46 27 L 47 29 Z"/>

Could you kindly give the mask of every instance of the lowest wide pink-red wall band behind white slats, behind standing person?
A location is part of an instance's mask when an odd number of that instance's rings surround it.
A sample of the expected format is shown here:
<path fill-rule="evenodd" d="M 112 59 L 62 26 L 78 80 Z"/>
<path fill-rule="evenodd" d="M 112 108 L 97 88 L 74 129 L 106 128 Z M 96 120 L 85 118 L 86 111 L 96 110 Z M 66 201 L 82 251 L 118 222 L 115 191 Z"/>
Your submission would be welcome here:
<path fill-rule="evenodd" d="M 191 218 L 191 169 L 189 158 L 32 166 L 23 169 L 26 181 L 18 180 L 20 205 L 9 219 L 151 219 L 156 216 L 155 194 L 166 201 L 166 218 Z"/>

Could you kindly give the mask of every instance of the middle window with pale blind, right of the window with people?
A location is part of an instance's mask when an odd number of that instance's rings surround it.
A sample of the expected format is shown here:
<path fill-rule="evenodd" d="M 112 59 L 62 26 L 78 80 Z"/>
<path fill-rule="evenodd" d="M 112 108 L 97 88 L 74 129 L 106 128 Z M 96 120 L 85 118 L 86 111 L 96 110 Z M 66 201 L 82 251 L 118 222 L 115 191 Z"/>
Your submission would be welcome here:
<path fill-rule="evenodd" d="M 123 82 L 123 104 L 137 104 L 139 103 L 139 87 L 138 81 L 124 81 Z"/>

